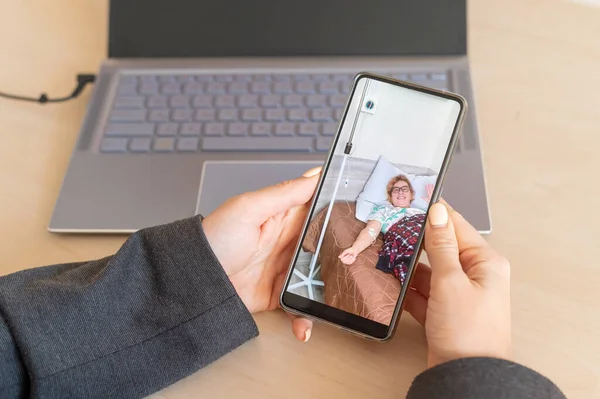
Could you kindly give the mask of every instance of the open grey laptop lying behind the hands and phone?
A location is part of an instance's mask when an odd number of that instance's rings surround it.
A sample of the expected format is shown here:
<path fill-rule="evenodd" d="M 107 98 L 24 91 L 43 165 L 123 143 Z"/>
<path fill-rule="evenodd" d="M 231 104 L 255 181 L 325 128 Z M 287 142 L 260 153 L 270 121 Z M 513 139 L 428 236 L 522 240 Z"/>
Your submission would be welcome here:
<path fill-rule="evenodd" d="M 468 100 L 443 197 L 488 233 L 466 24 L 466 0 L 111 0 L 48 229 L 129 233 L 300 176 L 370 71 Z"/>

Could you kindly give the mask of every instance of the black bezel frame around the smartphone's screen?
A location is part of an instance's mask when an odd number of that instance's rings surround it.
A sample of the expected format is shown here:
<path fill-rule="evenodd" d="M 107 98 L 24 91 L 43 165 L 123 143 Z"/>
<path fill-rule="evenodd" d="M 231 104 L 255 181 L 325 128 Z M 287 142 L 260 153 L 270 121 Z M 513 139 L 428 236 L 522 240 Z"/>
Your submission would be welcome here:
<path fill-rule="evenodd" d="M 353 313 L 349 313 L 349 312 L 337 309 L 337 308 L 329 306 L 329 305 L 325 305 L 325 304 L 317 302 L 317 301 L 313 301 L 308 298 L 304 298 L 300 295 L 287 292 L 287 287 L 290 283 L 290 279 L 291 279 L 293 271 L 294 271 L 294 265 L 295 265 L 296 261 L 298 260 L 300 250 L 302 248 L 302 242 L 304 241 L 304 239 L 306 237 L 308 225 L 309 225 L 309 223 L 314 215 L 314 212 L 315 212 L 317 199 L 319 198 L 321 189 L 323 188 L 326 171 L 329 170 L 329 167 L 331 166 L 331 161 L 333 159 L 335 149 L 336 149 L 336 147 L 338 145 L 338 141 L 340 139 L 342 126 L 346 122 L 346 116 L 348 114 L 348 110 L 350 108 L 352 99 L 354 98 L 354 94 L 355 94 L 358 82 L 363 78 L 373 79 L 373 80 L 377 80 L 380 82 L 392 84 L 395 86 L 404 87 L 404 88 L 407 88 L 410 90 L 415 90 L 415 91 L 431 94 L 431 95 L 434 95 L 437 97 L 454 100 L 459 104 L 460 110 L 458 113 L 458 117 L 456 119 L 456 123 L 454 125 L 454 129 L 452 131 L 452 135 L 450 137 L 450 141 L 449 141 L 448 147 L 446 149 L 446 153 L 444 155 L 444 160 L 442 162 L 442 166 L 441 166 L 440 172 L 438 174 L 438 179 L 436 180 L 436 184 L 435 184 L 435 188 L 434 188 L 434 191 L 433 191 L 433 194 L 431 197 L 430 204 L 435 203 L 439 199 L 439 193 L 443 186 L 447 169 L 452 161 L 452 156 L 454 155 L 456 143 L 458 141 L 458 137 L 462 130 L 464 119 L 465 119 L 465 116 L 467 113 L 468 104 L 464 97 L 462 97 L 456 93 L 450 93 L 450 92 L 446 92 L 443 90 L 433 89 L 433 88 L 421 86 L 421 85 L 418 85 L 418 84 L 415 84 L 412 82 L 405 82 L 405 81 L 397 80 L 397 79 L 394 79 L 394 78 L 391 78 L 388 76 L 379 75 L 379 74 L 371 73 L 371 72 L 360 72 L 354 77 L 354 81 L 353 81 L 352 88 L 350 90 L 350 94 L 348 95 L 348 98 L 346 99 L 346 106 L 344 109 L 344 114 L 343 114 L 342 118 L 340 119 L 340 122 L 338 123 L 337 132 L 335 134 L 333 143 L 331 144 L 331 147 L 329 149 L 329 153 L 327 155 L 327 159 L 323 166 L 323 171 L 319 178 L 319 182 L 317 184 L 315 194 L 313 195 L 313 198 L 311 200 L 311 205 L 310 205 L 310 209 L 308 211 L 308 215 L 306 217 L 306 220 L 304 221 L 304 225 L 302 226 L 302 231 L 301 231 L 298 243 L 297 243 L 295 251 L 294 251 L 294 256 L 290 262 L 290 267 L 289 267 L 288 273 L 286 275 L 285 282 L 283 284 L 283 289 L 279 296 L 279 303 L 280 303 L 280 306 L 285 311 L 290 312 L 292 314 L 296 314 L 298 316 L 306 317 L 306 318 L 309 318 L 309 319 L 312 319 L 315 321 L 319 321 L 319 322 L 323 322 L 323 323 L 335 326 L 337 328 L 340 328 L 340 329 L 350 332 L 352 334 L 359 335 L 366 339 L 384 342 L 384 341 L 391 339 L 394 336 L 396 329 L 398 327 L 398 321 L 399 321 L 400 315 L 402 314 L 402 308 L 404 306 L 404 301 L 406 299 L 406 292 L 408 291 L 408 289 L 410 287 L 410 283 L 414 276 L 415 266 L 421 255 L 423 238 L 425 236 L 425 231 L 424 231 L 425 229 L 423 229 L 423 231 L 419 237 L 419 241 L 417 243 L 417 248 L 418 248 L 417 256 L 415 256 L 413 262 L 411 263 L 411 265 L 408 268 L 406 282 L 401 287 L 401 290 L 400 290 L 400 293 L 398 296 L 398 300 L 396 302 L 396 306 L 394 308 L 394 313 L 392 315 L 392 319 L 390 320 L 389 326 L 375 322 L 373 320 L 366 319 L 364 317 L 355 315 Z M 429 215 L 429 209 L 430 209 L 430 207 L 427 208 L 426 216 Z"/>

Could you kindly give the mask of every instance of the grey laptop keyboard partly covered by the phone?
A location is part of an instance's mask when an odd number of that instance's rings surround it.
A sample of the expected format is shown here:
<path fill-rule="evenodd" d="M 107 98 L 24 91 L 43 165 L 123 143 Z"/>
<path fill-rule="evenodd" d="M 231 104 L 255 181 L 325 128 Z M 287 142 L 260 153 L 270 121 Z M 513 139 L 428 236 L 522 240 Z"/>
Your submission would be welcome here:
<path fill-rule="evenodd" d="M 384 74 L 448 89 L 445 71 Z M 100 151 L 326 152 L 353 77 L 121 75 Z"/>

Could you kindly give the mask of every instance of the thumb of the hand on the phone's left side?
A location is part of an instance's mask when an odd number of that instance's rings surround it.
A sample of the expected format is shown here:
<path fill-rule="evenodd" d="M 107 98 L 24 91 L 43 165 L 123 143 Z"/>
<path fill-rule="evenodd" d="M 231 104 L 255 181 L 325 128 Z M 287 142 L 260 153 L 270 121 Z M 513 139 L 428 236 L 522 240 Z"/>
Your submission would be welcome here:
<path fill-rule="evenodd" d="M 315 192 L 320 172 L 321 167 L 313 168 L 297 179 L 247 193 L 253 221 L 262 224 L 271 216 L 306 204 Z"/>

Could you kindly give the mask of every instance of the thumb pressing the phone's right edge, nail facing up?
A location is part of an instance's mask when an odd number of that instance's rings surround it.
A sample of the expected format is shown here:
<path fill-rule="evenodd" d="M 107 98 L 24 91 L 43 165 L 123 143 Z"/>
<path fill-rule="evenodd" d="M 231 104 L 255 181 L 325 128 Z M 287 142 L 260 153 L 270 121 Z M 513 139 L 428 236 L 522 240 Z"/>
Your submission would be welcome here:
<path fill-rule="evenodd" d="M 436 203 L 429 209 L 425 252 L 431 265 L 432 279 L 462 271 L 454 225 L 444 204 Z"/>

